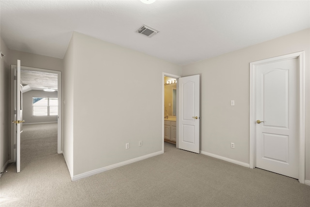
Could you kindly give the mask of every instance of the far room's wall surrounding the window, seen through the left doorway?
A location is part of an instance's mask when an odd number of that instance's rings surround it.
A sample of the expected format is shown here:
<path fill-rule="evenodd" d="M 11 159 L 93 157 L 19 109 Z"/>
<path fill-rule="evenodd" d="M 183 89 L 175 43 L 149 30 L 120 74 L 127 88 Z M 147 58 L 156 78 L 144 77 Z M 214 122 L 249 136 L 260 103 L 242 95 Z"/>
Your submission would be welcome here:
<path fill-rule="evenodd" d="M 32 97 L 52 97 L 57 98 L 57 91 L 55 92 L 46 92 L 39 90 L 31 90 L 23 93 L 23 120 L 25 124 L 31 123 L 43 123 L 43 122 L 57 122 L 57 116 L 32 116 Z"/>

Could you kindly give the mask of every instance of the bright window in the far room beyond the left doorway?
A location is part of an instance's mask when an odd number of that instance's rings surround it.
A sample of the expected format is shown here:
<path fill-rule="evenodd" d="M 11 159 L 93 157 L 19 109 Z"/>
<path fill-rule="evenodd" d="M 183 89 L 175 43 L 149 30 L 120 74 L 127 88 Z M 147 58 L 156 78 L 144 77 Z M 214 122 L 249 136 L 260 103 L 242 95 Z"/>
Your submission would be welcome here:
<path fill-rule="evenodd" d="M 57 116 L 58 98 L 32 97 L 33 116 Z"/>

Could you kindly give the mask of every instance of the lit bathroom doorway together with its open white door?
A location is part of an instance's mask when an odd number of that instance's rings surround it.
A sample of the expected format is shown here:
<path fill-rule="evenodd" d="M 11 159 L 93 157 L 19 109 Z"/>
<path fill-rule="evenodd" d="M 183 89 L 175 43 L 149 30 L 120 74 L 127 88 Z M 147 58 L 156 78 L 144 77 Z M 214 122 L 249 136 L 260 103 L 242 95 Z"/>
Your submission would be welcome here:
<path fill-rule="evenodd" d="M 165 77 L 170 78 L 168 80 Z M 176 87 L 173 87 L 173 84 Z M 165 86 L 171 96 L 165 98 Z M 200 153 L 200 75 L 180 77 L 163 73 L 163 151 L 164 143 L 174 143 L 176 148 Z M 176 102 L 173 112 L 173 94 Z M 167 96 L 166 96 L 167 97 Z"/>

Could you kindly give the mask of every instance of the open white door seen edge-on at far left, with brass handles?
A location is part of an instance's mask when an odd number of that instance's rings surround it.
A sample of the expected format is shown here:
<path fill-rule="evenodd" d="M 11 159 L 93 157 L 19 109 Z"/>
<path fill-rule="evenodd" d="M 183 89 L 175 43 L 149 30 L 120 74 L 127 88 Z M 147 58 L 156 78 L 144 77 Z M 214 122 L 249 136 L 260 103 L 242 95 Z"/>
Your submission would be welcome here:
<path fill-rule="evenodd" d="M 23 120 L 21 118 L 21 87 L 20 87 L 20 60 L 17 60 L 17 67 L 14 68 L 14 113 L 15 113 L 15 120 L 13 121 L 16 124 L 15 127 L 15 144 L 16 144 L 16 171 L 17 173 L 20 172 L 20 129 L 21 123 Z"/>

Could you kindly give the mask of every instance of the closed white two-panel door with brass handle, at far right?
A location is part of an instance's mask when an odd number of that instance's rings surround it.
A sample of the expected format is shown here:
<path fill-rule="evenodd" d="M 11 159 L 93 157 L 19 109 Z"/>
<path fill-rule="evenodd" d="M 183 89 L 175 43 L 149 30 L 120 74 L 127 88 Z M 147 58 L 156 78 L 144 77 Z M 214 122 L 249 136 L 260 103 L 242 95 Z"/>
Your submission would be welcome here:
<path fill-rule="evenodd" d="M 298 178 L 298 58 L 255 71 L 255 167 Z"/>

